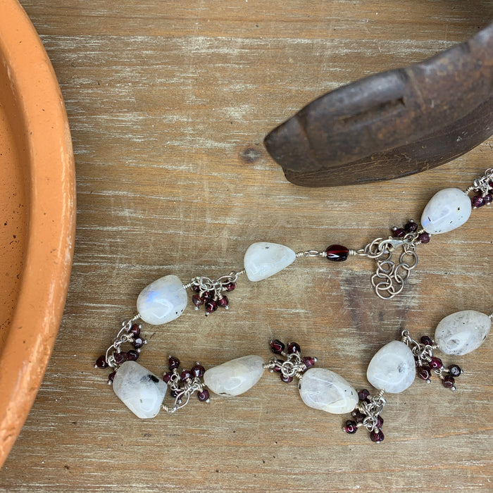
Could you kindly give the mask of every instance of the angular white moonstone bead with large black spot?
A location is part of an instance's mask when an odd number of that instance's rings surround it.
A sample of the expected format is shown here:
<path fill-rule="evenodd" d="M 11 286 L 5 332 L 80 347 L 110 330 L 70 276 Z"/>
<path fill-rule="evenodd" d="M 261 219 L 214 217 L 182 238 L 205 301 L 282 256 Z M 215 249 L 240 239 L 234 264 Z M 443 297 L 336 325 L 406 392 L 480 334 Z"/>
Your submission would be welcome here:
<path fill-rule="evenodd" d="M 144 366 L 126 361 L 113 379 L 113 390 L 123 404 L 138 418 L 157 416 L 166 394 L 167 385 Z"/>

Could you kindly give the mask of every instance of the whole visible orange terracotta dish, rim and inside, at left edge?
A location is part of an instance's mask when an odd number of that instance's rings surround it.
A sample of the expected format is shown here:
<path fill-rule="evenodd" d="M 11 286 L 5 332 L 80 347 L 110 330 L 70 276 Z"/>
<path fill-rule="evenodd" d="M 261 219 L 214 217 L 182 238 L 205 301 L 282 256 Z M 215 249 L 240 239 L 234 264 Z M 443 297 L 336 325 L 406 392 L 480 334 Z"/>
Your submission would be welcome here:
<path fill-rule="evenodd" d="M 60 324 L 75 236 L 65 106 L 41 40 L 0 0 L 0 466 L 35 400 Z"/>

